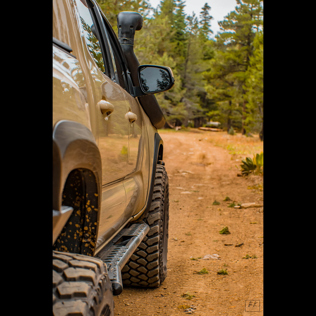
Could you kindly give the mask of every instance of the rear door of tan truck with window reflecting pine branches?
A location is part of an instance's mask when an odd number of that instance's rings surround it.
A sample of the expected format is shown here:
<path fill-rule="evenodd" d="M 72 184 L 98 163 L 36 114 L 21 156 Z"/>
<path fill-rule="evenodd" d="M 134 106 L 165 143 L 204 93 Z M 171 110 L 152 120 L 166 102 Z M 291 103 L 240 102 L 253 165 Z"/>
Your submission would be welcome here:
<path fill-rule="evenodd" d="M 126 207 L 124 179 L 127 173 L 129 120 L 121 86 L 116 82 L 112 56 L 95 8 L 76 0 L 79 10 L 86 65 L 92 77 L 94 104 L 89 106 L 96 126 L 102 161 L 102 197 L 96 252 L 123 224 Z"/>

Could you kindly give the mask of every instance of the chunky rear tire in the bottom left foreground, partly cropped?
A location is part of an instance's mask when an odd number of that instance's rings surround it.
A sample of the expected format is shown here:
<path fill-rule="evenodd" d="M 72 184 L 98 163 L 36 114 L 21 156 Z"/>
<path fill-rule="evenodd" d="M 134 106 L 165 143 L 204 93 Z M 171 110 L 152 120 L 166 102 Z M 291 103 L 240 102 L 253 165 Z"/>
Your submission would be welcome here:
<path fill-rule="evenodd" d="M 106 264 L 81 254 L 53 251 L 53 315 L 113 316 Z"/>

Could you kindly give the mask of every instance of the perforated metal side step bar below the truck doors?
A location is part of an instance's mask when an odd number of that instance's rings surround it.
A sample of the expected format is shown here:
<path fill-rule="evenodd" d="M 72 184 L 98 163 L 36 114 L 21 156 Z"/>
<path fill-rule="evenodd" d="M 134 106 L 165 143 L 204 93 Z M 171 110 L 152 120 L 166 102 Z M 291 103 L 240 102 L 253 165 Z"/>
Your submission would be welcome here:
<path fill-rule="evenodd" d="M 96 256 L 106 263 L 112 282 L 113 295 L 123 291 L 121 270 L 149 232 L 147 224 L 133 224 L 123 228 Z"/>

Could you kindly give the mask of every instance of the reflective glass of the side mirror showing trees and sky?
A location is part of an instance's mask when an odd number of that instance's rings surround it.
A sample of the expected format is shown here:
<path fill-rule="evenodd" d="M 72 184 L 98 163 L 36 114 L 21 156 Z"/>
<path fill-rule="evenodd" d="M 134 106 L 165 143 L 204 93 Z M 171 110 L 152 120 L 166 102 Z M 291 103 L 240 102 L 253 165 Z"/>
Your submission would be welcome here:
<path fill-rule="evenodd" d="M 170 85 L 169 73 L 157 67 L 144 67 L 140 71 L 140 80 L 146 92 L 163 91 Z"/>

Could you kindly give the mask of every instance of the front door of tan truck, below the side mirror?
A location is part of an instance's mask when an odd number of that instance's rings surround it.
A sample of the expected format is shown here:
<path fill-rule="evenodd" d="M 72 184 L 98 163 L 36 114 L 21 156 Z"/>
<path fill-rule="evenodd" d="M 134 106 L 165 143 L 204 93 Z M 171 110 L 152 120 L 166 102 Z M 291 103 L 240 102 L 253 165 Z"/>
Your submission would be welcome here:
<path fill-rule="evenodd" d="M 112 64 L 117 76 L 116 82 L 123 88 L 128 111 L 126 116 L 129 125 L 129 147 L 126 177 L 124 180 L 126 209 L 123 222 L 125 222 L 131 216 L 141 211 L 145 206 L 149 189 L 148 137 L 144 118 L 146 114 L 137 99 L 129 93 L 130 86 L 126 80 L 128 78 L 128 73 L 124 71 L 124 69 L 127 69 L 127 66 L 125 64 L 123 52 L 111 25 L 108 23 L 100 9 L 99 13 L 106 32 L 109 49 L 113 56 Z"/>

